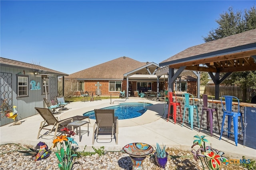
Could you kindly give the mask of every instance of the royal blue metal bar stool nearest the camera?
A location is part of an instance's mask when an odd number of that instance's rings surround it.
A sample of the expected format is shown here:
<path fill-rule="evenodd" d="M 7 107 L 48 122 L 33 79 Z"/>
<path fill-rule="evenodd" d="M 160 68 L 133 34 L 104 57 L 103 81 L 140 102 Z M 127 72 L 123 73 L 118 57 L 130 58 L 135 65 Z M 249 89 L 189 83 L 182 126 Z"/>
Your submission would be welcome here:
<path fill-rule="evenodd" d="M 222 101 L 222 97 L 225 98 L 225 105 L 223 104 Z M 239 100 L 237 97 L 234 96 L 222 96 L 220 98 L 221 104 L 222 104 L 222 110 L 223 110 L 223 119 L 222 119 L 222 125 L 221 125 L 221 132 L 220 132 L 220 139 L 222 137 L 222 133 L 223 132 L 227 132 L 228 134 L 228 138 L 229 138 L 229 134 L 234 134 L 234 138 L 235 138 L 235 143 L 237 146 L 237 142 L 238 142 L 238 134 L 242 134 L 244 133 L 244 123 L 243 123 L 243 117 L 242 114 L 240 113 L 240 106 L 239 106 Z M 238 112 L 234 112 L 232 111 L 232 100 L 235 99 L 238 102 Z M 225 107 L 224 107 L 225 106 Z M 228 116 L 228 127 L 224 128 L 224 123 L 225 123 L 225 117 Z M 242 132 L 238 133 L 238 117 L 240 117 L 240 123 L 242 126 Z M 232 118 L 233 118 L 233 127 L 234 129 L 231 128 L 231 122 L 232 122 Z M 231 130 L 234 130 L 234 132 L 231 132 Z"/>

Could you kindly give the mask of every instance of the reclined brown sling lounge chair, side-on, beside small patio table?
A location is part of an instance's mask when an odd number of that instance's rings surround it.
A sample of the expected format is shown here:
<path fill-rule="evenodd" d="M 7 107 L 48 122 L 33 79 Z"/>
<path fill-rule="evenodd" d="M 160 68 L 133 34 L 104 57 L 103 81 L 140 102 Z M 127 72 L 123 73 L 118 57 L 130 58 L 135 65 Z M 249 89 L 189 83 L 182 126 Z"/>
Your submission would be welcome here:
<path fill-rule="evenodd" d="M 48 136 L 48 135 L 54 136 L 54 138 L 55 138 L 57 132 L 61 132 L 60 131 L 61 128 L 67 127 L 68 123 L 71 123 L 73 121 L 81 121 L 84 119 L 88 119 L 88 122 L 90 123 L 90 119 L 88 116 L 74 116 L 74 117 L 70 117 L 68 119 L 59 121 L 58 118 L 56 118 L 56 117 L 54 117 L 54 115 L 52 115 L 52 113 L 50 112 L 49 109 L 39 108 L 39 107 L 35 107 L 35 109 L 41 115 L 41 117 L 44 119 L 44 121 L 42 121 L 40 123 L 37 139 L 39 137 Z M 49 126 L 52 126 L 52 128 L 48 128 Z M 48 131 L 46 131 L 43 134 L 40 134 L 42 129 L 45 129 Z M 54 132 L 54 135 L 51 135 L 51 132 Z"/>

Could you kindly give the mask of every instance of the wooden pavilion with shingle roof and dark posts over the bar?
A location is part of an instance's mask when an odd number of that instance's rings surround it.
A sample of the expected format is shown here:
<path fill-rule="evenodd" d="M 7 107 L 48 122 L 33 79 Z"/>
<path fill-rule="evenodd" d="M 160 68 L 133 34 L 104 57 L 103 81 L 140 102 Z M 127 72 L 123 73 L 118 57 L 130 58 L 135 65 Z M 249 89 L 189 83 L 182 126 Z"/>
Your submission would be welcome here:
<path fill-rule="evenodd" d="M 219 99 L 219 85 L 232 72 L 256 70 L 256 29 L 189 47 L 160 62 L 159 66 L 169 68 L 168 89 L 171 91 L 182 71 L 208 72 L 215 84 L 215 99 Z M 178 71 L 174 73 L 174 69 Z M 220 73 L 225 73 L 221 79 Z"/>

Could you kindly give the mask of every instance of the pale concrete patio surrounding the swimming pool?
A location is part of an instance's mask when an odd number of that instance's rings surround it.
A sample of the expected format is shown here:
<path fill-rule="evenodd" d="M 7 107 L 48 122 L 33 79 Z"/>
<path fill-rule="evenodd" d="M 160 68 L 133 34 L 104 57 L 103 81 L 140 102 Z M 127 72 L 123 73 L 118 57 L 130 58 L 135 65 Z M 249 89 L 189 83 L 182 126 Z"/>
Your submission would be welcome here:
<path fill-rule="evenodd" d="M 112 101 L 114 100 L 112 99 Z M 200 136 L 209 135 L 207 130 L 201 130 L 201 132 L 199 132 L 197 127 L 194 127 L 193 130 L 186 124 L 182 127 L 179 121 L 177 121 L 176 124 L 174 124 L 172 120 L 167 122 L 165 119 L 166 113 L 164 114 L 164 117 L 162 117 L 164 112 L 164 103 L 162 102 L 150 101 L 139 97 L 129 97 L 125 102 L 146 102 L 152 103 L 153 105 L 140 117 L 118 121 L 118 144 L 115 143 L 115 139 L 112 141 L 95 140 L 94 147 L 100 148 L 100 146 L 104 146 L 108 151 L 120 151 L 123 146 L 132 142 L 144 142 L 150 144 L 153 148 L 156 146 L 156 142 L 158 142 L 159 144 L 166 144 L 166 147 L 191 150 L 194 140 L 193 136 L 196 134 L 199 134 Z M 56 115 L 56 117 L 62 120 L 75 115 L 82 115 L 87 111 L 108 106 L 113 106 L 110 105 L 110 99 L 92 102 L 72 102 L 67 105 L 67 107 L 71 109 L 63 111 Z M 36 146 L 39 141 L 43 141 L 46 142 L 49 147 L 52 146 L 53 136 L 44 136 L 36 139 L 40 122 L 43 121 L 39 114 L 19 121 L 21 121 L 20 125 L 13 125 L 13 123 L 11 123 L 0 127 L 0 144 L 20 143 Z M 90 119 L 90 121 L 89 136 L 84 134 L 81 142 L 79 142 L 79 137 L 75 136 L 80 151 L 84 149 L 84 146 L 86 146 L 86 151 L 93 151 L 91 147 L 93 137 L 92 129 L 95 120 Z M 87 125 L 84 125 L 81 129 L 87 130 Z M 229 156 L 233 159 L 242 159 L 242 156 L 246 156 L 248 159 L 256 159 L 255 149 L 243 146 L 242 141 L 240 140 L 238 141 L 238 146 L 235 146 L 234 138 L 229 139 L 226 136 L 222 136 L 222 139 L 219 140 L 219 136 L 219 134 L 214 133 L 212 137 L 208 136 L 207 139 L 212 143 L 213 148 L 222 150 L 225 153 L 225 156 Z"/>

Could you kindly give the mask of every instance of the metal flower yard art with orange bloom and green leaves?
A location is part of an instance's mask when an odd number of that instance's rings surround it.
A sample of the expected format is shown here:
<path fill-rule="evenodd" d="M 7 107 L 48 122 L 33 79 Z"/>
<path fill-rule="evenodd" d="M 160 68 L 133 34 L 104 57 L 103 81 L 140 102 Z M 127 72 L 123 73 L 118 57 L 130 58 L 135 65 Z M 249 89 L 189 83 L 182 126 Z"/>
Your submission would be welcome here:
<path fill-rule="evenodd" d="M 60 162 L 58 164 L 60 170 L 71 170 L 73 167 L 74 157 L 77 156 L 77 154 L 74 154 L 75 149 L 71 145 L 78 144 L 76 143 L 74 138 L 71 137 L 75 135 L 74 131 L 71 131 L 68 128 L 64 128 L 61 130 L 64 131 L 65 134 L 56 136 L 56 138 L 53 140 L 52 148 L 57 148 L 57 152 L 55 154 Z M 60 149 L 58 148 L 58 144 L 60 146 Z"/>

